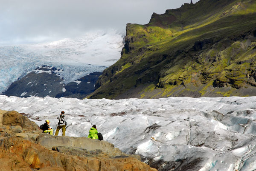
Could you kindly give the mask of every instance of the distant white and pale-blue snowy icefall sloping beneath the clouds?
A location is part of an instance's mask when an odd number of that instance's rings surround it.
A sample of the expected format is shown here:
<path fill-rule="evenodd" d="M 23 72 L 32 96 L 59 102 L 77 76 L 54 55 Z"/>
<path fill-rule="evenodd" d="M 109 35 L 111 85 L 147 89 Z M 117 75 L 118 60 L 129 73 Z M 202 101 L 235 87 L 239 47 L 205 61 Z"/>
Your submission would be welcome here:
<path fill-rule="evenodd" d="M 50 43 L 0 46 L 0 94 L 15 80 L 43 65 L 63 69 L 64 83 L 102 72 L 119 60 L 122 47 L 123 36 L 115 31 L 95 31 Z"/>

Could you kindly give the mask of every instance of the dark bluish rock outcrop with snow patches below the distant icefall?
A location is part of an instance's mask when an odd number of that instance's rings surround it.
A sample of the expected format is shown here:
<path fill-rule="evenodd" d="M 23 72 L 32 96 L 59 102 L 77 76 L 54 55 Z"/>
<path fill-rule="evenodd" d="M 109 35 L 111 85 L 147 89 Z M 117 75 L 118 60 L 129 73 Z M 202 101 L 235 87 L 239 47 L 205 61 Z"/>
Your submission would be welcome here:
<path fill-rule="evenodd" d="M 92 93 L 101 72 L 86 75 L 75 82 L 63 83 L 60 69 L 42 66 L 30 72 L 20 80 L 15 81 L 3 94 L 17 97 L 73 97 L 82 99 Z"/>

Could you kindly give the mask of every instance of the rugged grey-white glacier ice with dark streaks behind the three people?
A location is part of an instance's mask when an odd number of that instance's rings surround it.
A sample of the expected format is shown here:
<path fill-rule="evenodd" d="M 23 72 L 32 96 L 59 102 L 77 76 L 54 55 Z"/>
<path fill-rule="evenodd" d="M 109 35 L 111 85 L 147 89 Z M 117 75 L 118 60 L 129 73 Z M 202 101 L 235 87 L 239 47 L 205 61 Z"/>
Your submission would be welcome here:
<path fill-rule="evenodd" d="M 162 171 L 256 169 L 256 97 L 72 99 L 0 96 L 0 109 L 38 125 L 65 111 L 66 135 L 86 137 L 97 125 L 104 140 Z"/>

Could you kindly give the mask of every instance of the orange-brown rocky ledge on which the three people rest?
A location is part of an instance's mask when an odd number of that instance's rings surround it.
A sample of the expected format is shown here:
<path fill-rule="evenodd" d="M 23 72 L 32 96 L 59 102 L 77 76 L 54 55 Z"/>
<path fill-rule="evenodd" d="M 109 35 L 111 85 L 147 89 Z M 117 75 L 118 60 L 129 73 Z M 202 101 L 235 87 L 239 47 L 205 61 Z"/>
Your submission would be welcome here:
<path fill-rule="evenodd" d="M 86 137 L 54 137 L 16 111 L 0 110 L 1 171 L 156 171 L 114 145 Z"/>

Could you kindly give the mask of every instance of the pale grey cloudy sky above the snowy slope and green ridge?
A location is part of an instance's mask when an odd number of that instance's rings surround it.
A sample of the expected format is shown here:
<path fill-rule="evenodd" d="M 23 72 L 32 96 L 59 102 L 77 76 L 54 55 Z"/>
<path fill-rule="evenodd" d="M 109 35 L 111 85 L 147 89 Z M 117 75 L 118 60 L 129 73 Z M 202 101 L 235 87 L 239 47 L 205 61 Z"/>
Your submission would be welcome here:
<path fill-rule="evenodd" d="M 79 37 L 98 29 L 125 33 L 126 23 L 146 24 L 153 12 L 184 3 L 190 0 L 0 0 L 0 44 Z"/>

